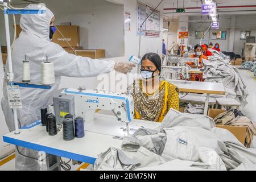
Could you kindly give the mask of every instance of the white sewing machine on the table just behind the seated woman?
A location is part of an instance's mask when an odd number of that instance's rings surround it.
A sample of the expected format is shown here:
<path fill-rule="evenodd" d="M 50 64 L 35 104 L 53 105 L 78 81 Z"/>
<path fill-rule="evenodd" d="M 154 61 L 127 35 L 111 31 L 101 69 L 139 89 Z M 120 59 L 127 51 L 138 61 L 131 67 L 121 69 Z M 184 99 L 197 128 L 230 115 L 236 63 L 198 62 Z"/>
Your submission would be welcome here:
<path fill-rule="evenodd" d="M 183 67 L 171 67 L 171 66 L 162 66 L 161 71 L 162 77 L 167 80 L 180 80 L 180 76 L 182 76 L 183 79 L 188 80 L 189 78 L 189 67 L 183 66 Z"/>

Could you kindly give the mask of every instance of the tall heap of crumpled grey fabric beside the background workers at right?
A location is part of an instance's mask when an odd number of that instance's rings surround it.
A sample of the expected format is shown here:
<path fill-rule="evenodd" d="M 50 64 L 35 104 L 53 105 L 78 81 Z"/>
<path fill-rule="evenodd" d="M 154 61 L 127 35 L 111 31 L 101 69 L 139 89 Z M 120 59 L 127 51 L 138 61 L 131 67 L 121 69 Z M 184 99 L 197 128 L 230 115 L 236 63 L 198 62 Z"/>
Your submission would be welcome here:
<path fill-rule="evenodd" d="M 204 78 L 206 82 L 223 83 L 227 98 L 236 98 L 241 104 L 246 105 L 248 92 L 246 85 L 236 67 L 220 61 L 203 60 Z"/>

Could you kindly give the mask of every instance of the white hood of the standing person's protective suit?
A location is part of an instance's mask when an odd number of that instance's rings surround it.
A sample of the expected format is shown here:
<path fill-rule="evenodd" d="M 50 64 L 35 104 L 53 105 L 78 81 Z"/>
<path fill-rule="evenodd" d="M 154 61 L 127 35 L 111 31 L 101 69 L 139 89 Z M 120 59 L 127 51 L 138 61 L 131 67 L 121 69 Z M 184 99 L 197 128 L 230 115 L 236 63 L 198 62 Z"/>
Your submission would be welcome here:
<path fill-rule="evenodd" d="M 23 14 L 20 17 L 20 27 L 23 32 L 38 36 L 41 39 L 49 40 L 49 25 L 54 16 L 52 11 L 40 3 L 39 5 L 28 5 L 26 10 L 46 10 L 46 14 Z"/>

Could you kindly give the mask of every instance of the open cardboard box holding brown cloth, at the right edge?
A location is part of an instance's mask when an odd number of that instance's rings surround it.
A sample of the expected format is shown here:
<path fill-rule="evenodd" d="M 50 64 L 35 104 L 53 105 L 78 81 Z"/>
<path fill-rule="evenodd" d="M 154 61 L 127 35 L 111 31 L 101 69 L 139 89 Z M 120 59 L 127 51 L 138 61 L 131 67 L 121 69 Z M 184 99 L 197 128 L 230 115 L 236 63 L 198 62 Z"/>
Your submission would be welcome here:
<path fill-rule="evenodd" d="M 208 116 L 214 119 L 218 114 L 224 113 L 225 111 L 223 109 L 209 109 Z M 216 125 L 216 127 L 229 130 L 242 144 L 245 144 L 247 127 L 228 125 Z"/>

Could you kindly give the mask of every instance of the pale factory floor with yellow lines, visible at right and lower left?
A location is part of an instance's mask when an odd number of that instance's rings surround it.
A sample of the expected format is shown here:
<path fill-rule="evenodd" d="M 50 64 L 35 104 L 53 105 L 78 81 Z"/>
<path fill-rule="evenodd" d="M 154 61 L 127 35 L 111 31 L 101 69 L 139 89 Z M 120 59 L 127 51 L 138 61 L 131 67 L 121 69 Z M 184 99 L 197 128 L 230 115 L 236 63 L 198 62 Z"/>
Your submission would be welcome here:
<path fill-rule="evenodd" d="M 247 97 L 248 104 L 242 108 L 242 113 L 246 117 L 250 118 L 256 125 L 256 78 L 252 75 L 250 71 L 240 69 L 241 77 L 247 86 L 249 96 Z M 254 137 L 252 148 L 256 148 L 256 137 Z M 68 161 L 68 159 L 64 159 Z M 72 162 L 71 162 L 72 163 Z M 80 168 L 86 168 L 87 164 L 81 164 L 80 166 L 72 166 L 71 171 L 80 170 Z M 15 156 L 14 154 L 7 156 L 7 158 L 0 160 L 0 171 L 14 171 L 15 170 Z M 63 170 L 63 169 L 61 169 Z"/>

